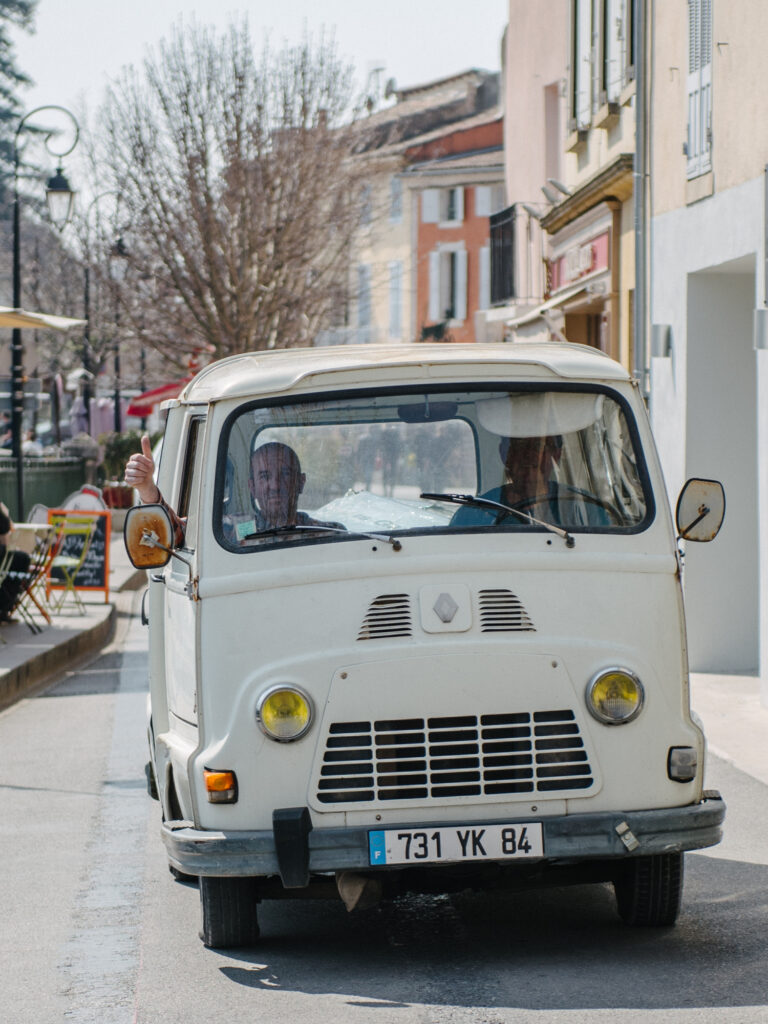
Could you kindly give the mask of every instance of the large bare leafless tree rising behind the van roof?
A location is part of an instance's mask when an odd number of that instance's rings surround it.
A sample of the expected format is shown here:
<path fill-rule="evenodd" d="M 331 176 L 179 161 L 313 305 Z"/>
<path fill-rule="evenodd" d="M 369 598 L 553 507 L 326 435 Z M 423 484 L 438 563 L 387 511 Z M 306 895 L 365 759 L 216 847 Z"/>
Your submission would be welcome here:
<path fill-rule="evenodd" d="M 126 316 L 179 366 L 333 323 L 362 212 L 352 81 L 323 37 L 257 59 L 243 23 L 178 29 L 111 88 L 98 160 L 130 222 Z"/>

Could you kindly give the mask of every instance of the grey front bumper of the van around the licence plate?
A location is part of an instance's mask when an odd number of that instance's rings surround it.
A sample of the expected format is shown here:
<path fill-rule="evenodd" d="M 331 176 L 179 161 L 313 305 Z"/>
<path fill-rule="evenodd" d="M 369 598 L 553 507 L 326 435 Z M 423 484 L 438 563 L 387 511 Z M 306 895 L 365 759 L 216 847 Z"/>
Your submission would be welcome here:
<path fill-rule="evenodd" d="M 688 807 L 515 820 L 542 822 L 545 862 L 573 863 L 715 846 L 722 838 L 724 818 L 723 799 L 713 792 Z M 165 821 L 163 841 L 170 863 L 185 874 L 279 876 L 286 888 L 306 886 L 310 874 L 322 872 L 387 870 L 371 867 L 368 827 L 312 828 L 306 808 L 275 811 L 273 820 L 273 829 L 259 831 L 206 831 L 189 821 Z M 495 822 L 461 819 L 456 823 L 482 826 Z M 499 819 L 499 823 L 504 822 Z M 427 828 L 430 823 L 420 826 Z"/>

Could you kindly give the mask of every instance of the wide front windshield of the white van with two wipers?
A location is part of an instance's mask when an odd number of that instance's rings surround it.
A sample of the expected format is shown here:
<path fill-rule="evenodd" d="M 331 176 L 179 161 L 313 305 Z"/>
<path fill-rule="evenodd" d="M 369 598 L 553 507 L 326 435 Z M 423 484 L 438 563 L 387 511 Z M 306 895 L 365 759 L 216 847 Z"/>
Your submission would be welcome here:
<path fill-rule="evenodd" d="M 230 550 L 360 534 L 642 529 L 652 500 L 609 389 L 518 386 L 244 406 L 220 446 L 214 528 Z"/>

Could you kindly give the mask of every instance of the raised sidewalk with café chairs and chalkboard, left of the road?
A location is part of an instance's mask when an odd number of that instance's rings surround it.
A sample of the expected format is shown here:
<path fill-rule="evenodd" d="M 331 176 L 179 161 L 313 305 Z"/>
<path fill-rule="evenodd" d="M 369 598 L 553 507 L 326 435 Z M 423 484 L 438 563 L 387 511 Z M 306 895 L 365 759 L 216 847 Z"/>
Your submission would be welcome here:
<path fill-rule="evenodd" d="M 33 633 L 22 621 L 0 626 L 0 710 L 102 647 L 115 628 L 114 595 L 143 586 L 145 579 L 128 561 L 123 535 L 117 532 L 110 541 L 109 603 L 103 592 L 81 592 L 85 615 L 68 601 L 50 626 L 36 616 L 42 633 Z"/>

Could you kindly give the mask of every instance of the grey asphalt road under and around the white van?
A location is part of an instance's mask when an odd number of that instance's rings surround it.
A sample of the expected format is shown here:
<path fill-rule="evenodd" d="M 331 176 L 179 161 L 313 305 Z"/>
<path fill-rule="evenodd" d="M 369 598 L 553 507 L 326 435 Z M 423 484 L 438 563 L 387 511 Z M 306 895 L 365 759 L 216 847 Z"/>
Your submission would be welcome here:
<path fill-rule="evenodd" d="M 716 759 L 726 838 L 687 856 L 675 929 L 580 887 L 265 903 L 257 947 L 205 949 L 144 790 L 146 637 L 121 599 L 99 658 L 0 715 L 0 1024 L 768 1022 L 768 786 Z"/>

